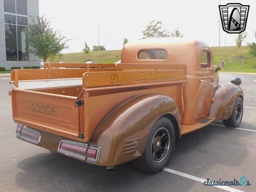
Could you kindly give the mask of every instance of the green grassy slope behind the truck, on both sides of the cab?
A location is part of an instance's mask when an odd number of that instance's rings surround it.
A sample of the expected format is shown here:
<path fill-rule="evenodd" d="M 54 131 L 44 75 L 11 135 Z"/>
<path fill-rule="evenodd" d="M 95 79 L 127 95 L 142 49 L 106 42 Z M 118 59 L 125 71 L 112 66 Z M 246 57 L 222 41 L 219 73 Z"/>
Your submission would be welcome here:
<path fill-rule="evenodd" d="M 238 48 L 236 46 L 212 47 L 212 52 L 215 65 L 218 65 L 221 60 L 225 61 L 225 72 L 256 73 L 256 58 L 248 54 L 248 46 L 240 47 L 240 57 L 238 57 Z M 90 60 L 99 63 L 113 63 L 121 59 L 121 50 L 91 51 L 88 57 Z M 47 62 L 84 63 L 86 60 L 87 56 L 82 52 L 78 52 L 62 54 L 61 58 L 48 59 Z"/>

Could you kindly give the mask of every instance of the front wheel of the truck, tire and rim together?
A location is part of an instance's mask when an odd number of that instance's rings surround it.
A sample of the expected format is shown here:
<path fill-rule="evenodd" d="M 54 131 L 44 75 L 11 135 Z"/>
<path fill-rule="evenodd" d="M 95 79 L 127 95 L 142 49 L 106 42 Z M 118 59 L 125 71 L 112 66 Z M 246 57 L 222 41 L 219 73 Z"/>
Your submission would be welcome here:
<path fill-rule="evenodd" d="M 244 105 L 241 97 L 236 98 L 232 114 L 227 120 L 222 120 L 227 127 L 239 127 L 244 113 Z"/>

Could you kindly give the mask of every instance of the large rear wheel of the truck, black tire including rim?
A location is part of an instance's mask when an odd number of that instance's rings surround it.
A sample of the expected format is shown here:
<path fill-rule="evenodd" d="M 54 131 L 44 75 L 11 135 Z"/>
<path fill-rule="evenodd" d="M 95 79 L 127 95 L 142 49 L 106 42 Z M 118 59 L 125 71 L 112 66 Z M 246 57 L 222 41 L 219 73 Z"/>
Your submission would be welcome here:
<path fill-rule="evenodd" d="M 166 117 L 159 118 L 150 131 L 142 156 L 132 161 L 133 166 L 148 173 L 161 171 L 173 153 L 174 144 L 172 122 Z"/>

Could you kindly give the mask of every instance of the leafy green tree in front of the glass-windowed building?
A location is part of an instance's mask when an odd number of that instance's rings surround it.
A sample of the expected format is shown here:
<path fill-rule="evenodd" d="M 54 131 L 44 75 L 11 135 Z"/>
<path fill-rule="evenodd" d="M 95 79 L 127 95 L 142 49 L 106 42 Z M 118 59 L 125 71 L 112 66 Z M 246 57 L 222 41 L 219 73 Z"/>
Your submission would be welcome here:
<path fill-rule="evenodd" d="M 32 47 L 30 52 L 43 58 L 44 62 L 68 48 L 66 43 L 69 40 L 60 34 L 60 30 L 54 30 L 44 16 L 32 18 L 32 24 L 28 26 L 28 43 Z"/>

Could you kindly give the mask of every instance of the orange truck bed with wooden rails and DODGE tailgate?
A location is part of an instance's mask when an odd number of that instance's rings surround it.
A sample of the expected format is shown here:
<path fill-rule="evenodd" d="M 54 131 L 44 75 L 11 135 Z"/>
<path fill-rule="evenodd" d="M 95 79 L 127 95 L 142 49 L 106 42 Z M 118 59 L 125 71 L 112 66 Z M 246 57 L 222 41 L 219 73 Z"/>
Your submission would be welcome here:
<path fill-rule="evenodd" d="M 60 68 L 60 67 L 84 68 Z M 11 74 L 14 121 L 88 142 L 115 106 L 140 94 L 173 98 L 180 112 L 183 64 L 48 64 Z M 171 89 L 168 87 L 172 86 Z"/>

